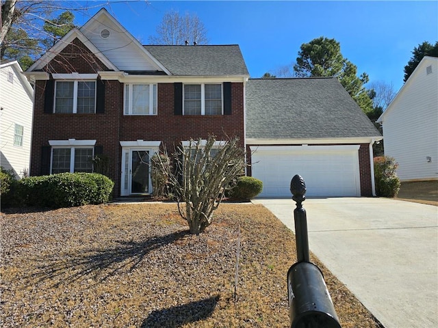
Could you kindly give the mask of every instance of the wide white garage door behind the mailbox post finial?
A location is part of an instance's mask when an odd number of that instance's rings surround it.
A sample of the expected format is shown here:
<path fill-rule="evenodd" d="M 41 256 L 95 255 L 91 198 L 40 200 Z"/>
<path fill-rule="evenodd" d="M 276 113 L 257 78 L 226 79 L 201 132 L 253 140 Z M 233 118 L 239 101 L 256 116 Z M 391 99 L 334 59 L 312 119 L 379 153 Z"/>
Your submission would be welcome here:
<path fill-rule="evenodd" d="M 359 145 L 251 146 L 253 177 L 263 182 L 259 197 L 292 197 L 290 181 L 304 178 L 308 197 L 360 196 Z"/>

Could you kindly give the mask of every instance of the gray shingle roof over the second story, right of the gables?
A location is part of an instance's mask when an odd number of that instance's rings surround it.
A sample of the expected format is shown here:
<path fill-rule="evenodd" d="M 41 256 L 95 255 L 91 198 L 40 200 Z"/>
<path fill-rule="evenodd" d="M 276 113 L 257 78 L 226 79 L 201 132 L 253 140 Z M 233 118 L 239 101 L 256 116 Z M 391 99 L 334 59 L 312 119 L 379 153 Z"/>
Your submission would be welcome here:
<path fill-rule="evenodd" d="M 237 44 L 222 46 L 144 46 L 173 75 L 248 75 Z"/>

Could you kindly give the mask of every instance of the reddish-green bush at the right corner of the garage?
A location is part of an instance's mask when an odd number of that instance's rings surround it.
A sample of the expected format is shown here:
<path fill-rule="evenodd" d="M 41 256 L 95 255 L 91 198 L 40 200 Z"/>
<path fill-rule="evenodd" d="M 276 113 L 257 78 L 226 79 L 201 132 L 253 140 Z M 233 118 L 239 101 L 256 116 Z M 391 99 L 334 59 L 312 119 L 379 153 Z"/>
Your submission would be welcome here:
<path fill-rule="evenodd" d="M 396 174 L 398 163 L 389 156 L 374 158 L 376 194 L 381 197 L 396 197 L 400 191 L 400 179 Z"/>

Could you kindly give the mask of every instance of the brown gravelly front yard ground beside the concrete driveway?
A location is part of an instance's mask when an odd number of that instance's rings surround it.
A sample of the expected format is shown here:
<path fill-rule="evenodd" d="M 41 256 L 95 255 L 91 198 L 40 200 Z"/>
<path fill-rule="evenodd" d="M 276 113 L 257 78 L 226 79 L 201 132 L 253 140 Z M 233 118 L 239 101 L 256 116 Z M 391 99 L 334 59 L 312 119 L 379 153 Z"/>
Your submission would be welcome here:
<path fill-rule="evenodd" d="M 222 204 L 215 217 L 194 236 L 176 204 L 2 213 L 0 327 L 289 327 L 294 234 L 261 205 Z M 342 327 L 379 327 L 311 260 Z"/>

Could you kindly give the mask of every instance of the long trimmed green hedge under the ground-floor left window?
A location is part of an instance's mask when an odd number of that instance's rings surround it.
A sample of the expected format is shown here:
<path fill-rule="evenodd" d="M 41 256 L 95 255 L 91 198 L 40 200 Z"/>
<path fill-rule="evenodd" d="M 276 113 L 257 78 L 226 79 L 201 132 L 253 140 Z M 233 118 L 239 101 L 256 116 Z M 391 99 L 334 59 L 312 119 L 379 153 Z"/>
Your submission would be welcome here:
<path fill-rule="evenodd" d="M 110 200 L 114 182 L 97 173 L 60 173 L 20 180 L 19 194 L 28 206 L 73 207 Z"/>

